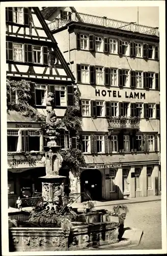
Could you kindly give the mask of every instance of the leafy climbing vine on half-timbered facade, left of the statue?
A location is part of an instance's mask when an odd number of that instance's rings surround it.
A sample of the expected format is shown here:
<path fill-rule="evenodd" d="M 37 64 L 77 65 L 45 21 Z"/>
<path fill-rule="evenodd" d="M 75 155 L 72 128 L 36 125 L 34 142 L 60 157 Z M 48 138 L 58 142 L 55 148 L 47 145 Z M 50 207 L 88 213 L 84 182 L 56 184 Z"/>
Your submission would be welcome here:
<path fill-rule="evenodd" d="M 31 86 L 31 81 L 7 79 L 7 113 L 10 114 L 9 111 L 17 111 L 22 116 L 30 117 L 36 122 L 43 122 L 46 117 L 31 105 Z M 14 92 L 16 92 L 17 99 L 12 102 L 10 95 Z"/>

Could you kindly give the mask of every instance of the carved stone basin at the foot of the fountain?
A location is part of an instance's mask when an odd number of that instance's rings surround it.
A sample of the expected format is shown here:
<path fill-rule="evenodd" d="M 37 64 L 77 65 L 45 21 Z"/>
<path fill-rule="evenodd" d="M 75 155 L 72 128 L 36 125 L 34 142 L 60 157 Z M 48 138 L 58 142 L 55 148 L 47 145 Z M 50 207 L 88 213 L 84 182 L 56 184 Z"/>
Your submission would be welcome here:
<path fill-rule="evenodd" d="M 23 211 L 20 211 L 21 215 Z M 54 225 L 27 225 L 25 218 L 21 220 L 18 216 L 18 227 L 9 228 L 10 251 L 79 250 L 118 242 L 118 221 L 106 221 L 105 214 L 100 210 L 78 215 L 77 220 L 72 222 L 71 231 L 66 232 Z"/>

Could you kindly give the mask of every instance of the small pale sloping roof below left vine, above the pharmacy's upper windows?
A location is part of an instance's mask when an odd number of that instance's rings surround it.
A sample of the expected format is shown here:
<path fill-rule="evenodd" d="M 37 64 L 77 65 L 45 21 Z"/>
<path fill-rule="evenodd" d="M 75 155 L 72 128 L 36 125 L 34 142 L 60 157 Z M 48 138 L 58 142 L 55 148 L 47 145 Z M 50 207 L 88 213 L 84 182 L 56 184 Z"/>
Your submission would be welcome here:
<path fill-rule="evenodd" d="M 7 114 L 7 122 L 34 122 L 36 123 L 36 121 L 34 121 L 32 118 L 30 117 L 25 117 L 22 116 L 19 112 L 13 110 L 13 111 L 9 111 L 9 114 Z"/>

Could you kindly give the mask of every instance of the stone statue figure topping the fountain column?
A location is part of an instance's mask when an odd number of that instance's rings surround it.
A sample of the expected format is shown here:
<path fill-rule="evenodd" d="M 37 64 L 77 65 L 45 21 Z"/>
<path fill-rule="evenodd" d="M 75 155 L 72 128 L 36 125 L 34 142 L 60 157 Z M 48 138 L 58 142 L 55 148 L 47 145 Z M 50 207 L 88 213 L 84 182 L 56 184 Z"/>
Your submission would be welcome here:
<path fill-rule="evenodd" d="M 49 124 L 55 123 L 57 121 L 57 116 L 53 109 L 53 102 L 54 102 L 53 93 L 48 93 L 48 96 L 46 99 L 46 112 L 47 112 L 46 122 Z"/>

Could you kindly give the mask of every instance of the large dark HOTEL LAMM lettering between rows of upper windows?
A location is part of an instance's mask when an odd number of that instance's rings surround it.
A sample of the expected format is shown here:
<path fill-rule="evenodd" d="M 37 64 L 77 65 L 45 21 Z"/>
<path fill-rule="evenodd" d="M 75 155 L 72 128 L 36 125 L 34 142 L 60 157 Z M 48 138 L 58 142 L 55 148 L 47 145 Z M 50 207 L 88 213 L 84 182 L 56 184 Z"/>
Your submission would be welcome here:
<path fill-rule="evenodd" d="M 125 93 L 125 98 L 129 98 L 129 99 L 146 99 L 146 94 L 145 93 L 136 93 L 136 92 L 130 92 L 130 94 L 128 94 L 128 92 L 124 92 Z M 113 98 L 122 98 L 122 95 L 120 94 L 120 91 L 111 91 L 111 90 L 95 90 L 95 95 L 96 96 L 109 96 L 109 97 L 113 97 Z"/>

